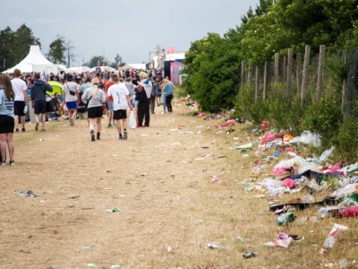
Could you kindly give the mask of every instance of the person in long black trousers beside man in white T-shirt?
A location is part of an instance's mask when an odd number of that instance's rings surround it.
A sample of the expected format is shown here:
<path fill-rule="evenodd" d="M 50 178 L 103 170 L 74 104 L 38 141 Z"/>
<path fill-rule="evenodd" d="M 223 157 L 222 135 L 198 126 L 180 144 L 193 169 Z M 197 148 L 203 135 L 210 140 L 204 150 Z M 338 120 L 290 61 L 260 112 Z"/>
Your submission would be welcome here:
<path fill-rule="evenodd" d="M 141 72 L 139 76 L 141 82 L 138 82 L 138 87 L 137 87 L 138 93 L 135 98 L 135 100 L 139 100 L 138 126 L 139 127 L 143 126 L 143 119 L 144 119 L 144 126 L 149 127 L 149 121 L 150 121 L 149 104 L 150 104 L 150 96 L 151 96 L 153 85 L 149 81 L 147 73 Z"/>

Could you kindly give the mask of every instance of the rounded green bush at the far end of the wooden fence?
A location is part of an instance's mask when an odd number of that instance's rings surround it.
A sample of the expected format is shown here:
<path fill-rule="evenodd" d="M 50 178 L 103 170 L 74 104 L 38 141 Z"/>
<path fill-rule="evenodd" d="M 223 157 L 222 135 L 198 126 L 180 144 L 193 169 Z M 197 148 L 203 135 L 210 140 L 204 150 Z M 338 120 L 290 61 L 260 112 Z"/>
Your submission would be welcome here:
<path fill-rule="evenodd" d="M 217 112 L 234 106 L 240 59 L 237 46 L 229 40 L 209 33 L 208 37 L 193 42 L 185 55 L 186 92 L 203 110 Z"/>

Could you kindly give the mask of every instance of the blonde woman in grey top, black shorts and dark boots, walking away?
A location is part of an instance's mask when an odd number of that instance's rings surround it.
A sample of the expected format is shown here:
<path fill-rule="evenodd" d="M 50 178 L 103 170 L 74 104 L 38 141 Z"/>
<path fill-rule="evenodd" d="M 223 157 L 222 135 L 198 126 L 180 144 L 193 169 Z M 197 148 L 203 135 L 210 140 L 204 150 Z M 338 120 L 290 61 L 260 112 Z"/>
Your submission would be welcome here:
<path fill-rule="evenodd" d="M 90 121 L 90 141 L 96 141 L 94 132 L 95 122 L 97 127 L 97 140 L 100 140 L 102 128 L 101 119 L 103 115 L 103 104 L 106 103 L 106 95 L 102 89 L 98 88 L 99 80 L 97 77 L 94 77 L 91 82 L 93 86 L 83 93 L 82 100 L 88 104 L 87 116 Z"/>

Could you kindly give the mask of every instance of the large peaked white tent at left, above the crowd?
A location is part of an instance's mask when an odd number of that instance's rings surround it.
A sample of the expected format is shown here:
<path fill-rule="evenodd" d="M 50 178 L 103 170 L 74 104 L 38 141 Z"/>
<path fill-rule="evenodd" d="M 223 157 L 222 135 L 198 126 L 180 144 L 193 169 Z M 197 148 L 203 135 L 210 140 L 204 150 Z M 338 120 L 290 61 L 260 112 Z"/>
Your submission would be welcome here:
<path fill-rule="evenodd" d="M 19 64 L 13 66 L 13 68 L 5 70 L 3 74 L 13 74 L 13 70 L 16 68 L 19 69 L 21 73 L 58 73 L 58 66 L 52 64 L 42 55 L 38 45 L 31 46 L 29 54 Z"/>

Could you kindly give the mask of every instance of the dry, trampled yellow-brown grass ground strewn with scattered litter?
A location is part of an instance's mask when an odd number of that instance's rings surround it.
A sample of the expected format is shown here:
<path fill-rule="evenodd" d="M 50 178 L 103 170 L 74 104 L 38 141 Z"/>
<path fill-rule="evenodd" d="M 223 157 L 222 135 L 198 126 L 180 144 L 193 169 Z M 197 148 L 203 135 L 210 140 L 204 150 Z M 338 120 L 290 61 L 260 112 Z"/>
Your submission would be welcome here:
<path fill-rule="evenodd" d="M 149 128 L 130 130 L 127 141 L 104 129 L 102 140 L 91 143 L 84 120 L 74 127 L 49 122 L 46 134 L 28 124 L 26 134 L 15 134 L 16 166 L 0 172 L 0 267 L 320 268 L 331 263 L 337 268 L 339 260 L 358 257 L 355 219 L 294 221 L 285 228 L 268 212 L 269 197 L 243 190 L 258 157 L 249 150 L 251 156 L 243 158 L 228 148 L 248 142 L 243 133 L 248 126 L 216 134 L 216 120 L 185 116 L 187 108 L 178 104 L 173 115 L 157 114 Z M 209 153 L 214 156 L 195 160 Z M 213 175 L 222 182 L 212 183 Z M 26 189 L 39 196 L 17 195 Z M 80 196 L 70 198 L 74 195 Z M 123 212 L 105 212 L 113 207 Z M 318 209 L 295 214 L 300 219 Z M 335 222 L 350 230 L 320 256 Z M 305 239 L 286 249 L 262 246 L 281 231 Z M 221 248 L 209 249 L 208 243 Z M 83 248 L 88 245 L 93 247 Z M 259 255 L 243 258 L 252 251 Z"/>

